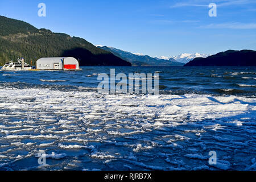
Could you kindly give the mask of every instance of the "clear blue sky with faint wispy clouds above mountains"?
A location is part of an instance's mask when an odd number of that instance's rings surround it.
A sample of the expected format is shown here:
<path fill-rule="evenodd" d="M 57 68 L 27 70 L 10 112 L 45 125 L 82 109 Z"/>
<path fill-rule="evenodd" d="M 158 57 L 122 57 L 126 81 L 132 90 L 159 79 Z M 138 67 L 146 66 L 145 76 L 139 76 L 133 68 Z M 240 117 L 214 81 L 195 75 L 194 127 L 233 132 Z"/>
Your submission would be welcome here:
<path fill-rule="evenodd" d="M 38 4 L 46 4 L 46 17 Z M 217 17 L 210 17 L 216 3 Z M 1 0 L 0 15 L 150 56 L 256 50 L 255 0 Z"/>

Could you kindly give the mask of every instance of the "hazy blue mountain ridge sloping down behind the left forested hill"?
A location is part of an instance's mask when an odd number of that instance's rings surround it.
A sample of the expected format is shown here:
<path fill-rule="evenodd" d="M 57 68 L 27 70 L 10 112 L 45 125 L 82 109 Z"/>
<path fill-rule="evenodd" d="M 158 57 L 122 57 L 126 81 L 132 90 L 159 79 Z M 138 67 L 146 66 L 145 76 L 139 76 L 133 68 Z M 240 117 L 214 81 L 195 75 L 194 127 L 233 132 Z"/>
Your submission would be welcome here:
<path fill-rule="evenodd" d="M 133 66 L 162 66 L 162 67 L 171 67 L 171 66 L 183 66 L 183 63 L 177 62 L 175 59 L 157 59 L 156 57 L 150 57 L 147 55 L 142 55 L 139 53 L 131 53 L 117 49 L 114 47 L 107 46 L 97 46 L 98 48 L 104 49 L 105 51 L 112 52 L 115 56 L 120 57 L 123 60 L 129 61 Z"/>

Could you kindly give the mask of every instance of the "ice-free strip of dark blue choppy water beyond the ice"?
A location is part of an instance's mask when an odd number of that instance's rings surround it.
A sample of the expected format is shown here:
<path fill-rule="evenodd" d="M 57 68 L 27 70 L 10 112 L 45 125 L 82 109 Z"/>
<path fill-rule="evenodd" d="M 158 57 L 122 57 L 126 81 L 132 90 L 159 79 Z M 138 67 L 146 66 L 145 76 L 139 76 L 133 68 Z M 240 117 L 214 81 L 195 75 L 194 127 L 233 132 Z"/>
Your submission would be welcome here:
<path fill-rule="evenodd" d="M 256 67 L 84 67 L 79 72 L 0 72 L 0 88 L 93 90 L 100 73 L 159 73 L 162 94 L 232 94 L 255 97 Z M 128 75 L 127 75 L 128 77 Z M 9 83 L 9 84 L 7 84 Z"/>

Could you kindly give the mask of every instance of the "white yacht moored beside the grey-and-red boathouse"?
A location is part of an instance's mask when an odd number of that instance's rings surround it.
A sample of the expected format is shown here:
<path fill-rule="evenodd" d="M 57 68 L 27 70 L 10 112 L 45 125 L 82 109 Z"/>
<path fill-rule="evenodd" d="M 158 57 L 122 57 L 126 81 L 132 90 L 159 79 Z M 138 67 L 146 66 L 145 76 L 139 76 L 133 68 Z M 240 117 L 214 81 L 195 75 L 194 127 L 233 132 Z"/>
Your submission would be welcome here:
<path fill-rule="evenodd" d="M 2 68 L 3 71 L 21 71 L 30 69 L 32 69 L 31 65 L 25 63 L 24 59 L 18 59 L 18 62 L 13 62 L 13 60 L 11 60 L 9 63 L 6 63 Z"/>

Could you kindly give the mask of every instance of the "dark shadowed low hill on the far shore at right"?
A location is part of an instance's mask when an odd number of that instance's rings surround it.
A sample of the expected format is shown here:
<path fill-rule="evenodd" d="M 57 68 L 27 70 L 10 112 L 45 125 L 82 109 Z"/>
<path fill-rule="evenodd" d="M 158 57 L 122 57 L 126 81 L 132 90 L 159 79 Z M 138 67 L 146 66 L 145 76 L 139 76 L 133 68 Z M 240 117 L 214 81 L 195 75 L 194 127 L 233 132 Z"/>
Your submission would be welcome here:
<path fill-rule="evenodd" d="M 225 51 L 207 58 L 195 58 L 186 66 L 256 66 L 256 51 Z"/>

